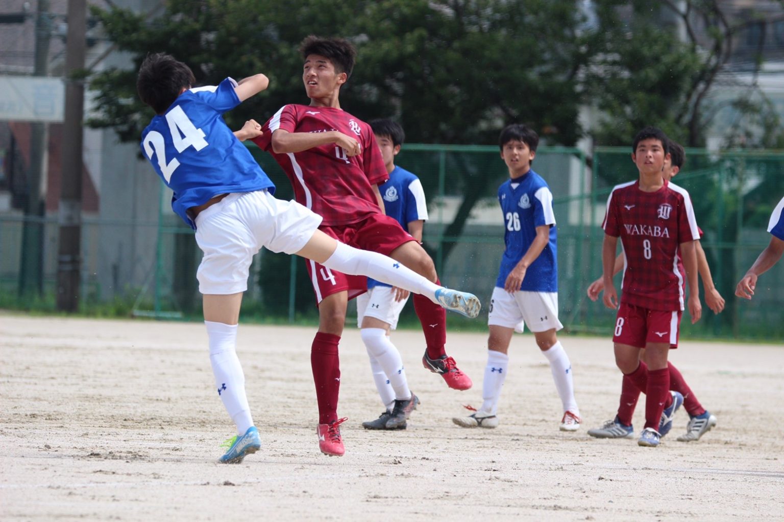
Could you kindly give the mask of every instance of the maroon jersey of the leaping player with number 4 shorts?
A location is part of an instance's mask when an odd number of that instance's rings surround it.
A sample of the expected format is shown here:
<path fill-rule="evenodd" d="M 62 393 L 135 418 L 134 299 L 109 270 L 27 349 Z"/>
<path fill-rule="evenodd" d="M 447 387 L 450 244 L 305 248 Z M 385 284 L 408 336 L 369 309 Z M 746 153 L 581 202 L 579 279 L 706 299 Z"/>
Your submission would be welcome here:
<path fill-rule="evenodd" d="M 301 152 L 275 154 L 272 133 L 328 132 L 337 130 L 355 138 L 362 151 L 348 158 L 346 151 L 328 143 Z M 357 223 L 381 212 L 372 185 L 389 179 L 387 167 L 370 125 L 342 109 L 284 105 L 263 125 L 263 135 L 254 143 L 272 154 L 289 176 L 297 202 L 316 212 L 322 225 Z"/>

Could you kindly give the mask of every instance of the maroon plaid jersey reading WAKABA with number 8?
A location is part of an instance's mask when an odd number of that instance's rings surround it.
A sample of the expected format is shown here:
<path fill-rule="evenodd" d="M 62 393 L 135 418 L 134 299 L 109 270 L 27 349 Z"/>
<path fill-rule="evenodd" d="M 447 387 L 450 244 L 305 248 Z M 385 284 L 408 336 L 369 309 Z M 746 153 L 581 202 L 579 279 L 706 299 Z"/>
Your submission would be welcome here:
<path fill-rule="evenodd" d="M 668 182 L 655 192 L 640 190 L 639 181 L 616 185 L 602 228 L 621 238 L 621 302 L 649 310 L 684 310 L 678 245 L 699 239 L 688 192 Z"/>

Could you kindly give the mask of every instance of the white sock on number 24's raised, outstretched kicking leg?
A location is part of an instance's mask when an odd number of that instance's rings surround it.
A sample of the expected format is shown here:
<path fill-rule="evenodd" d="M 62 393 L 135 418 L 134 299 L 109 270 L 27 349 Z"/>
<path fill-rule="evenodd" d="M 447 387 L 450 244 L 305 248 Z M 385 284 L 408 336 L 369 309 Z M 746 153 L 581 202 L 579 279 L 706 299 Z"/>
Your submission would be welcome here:
<path fill-rule="evenodd" d="M 406 268 L 394 259 L 377 252 L 360 250 L 338 241 L 335 252 L 332 252 L 332 256 L 329 256 L 329 259 L 321 264 L 343 272 L 343 274 L 372 277 L 376 281 L 387 283 L 387 285 L 394 285 L 409 292 L 424 295 L 434 303 L 440 304 L 435 293 L 441 286 L 428 281 L 426 277 Z"/>

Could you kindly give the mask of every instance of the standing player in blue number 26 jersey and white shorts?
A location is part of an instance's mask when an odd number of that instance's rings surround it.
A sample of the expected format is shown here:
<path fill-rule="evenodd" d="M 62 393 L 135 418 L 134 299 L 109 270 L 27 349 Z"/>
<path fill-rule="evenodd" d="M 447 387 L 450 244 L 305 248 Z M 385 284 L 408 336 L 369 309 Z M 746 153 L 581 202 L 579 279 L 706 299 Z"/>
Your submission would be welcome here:
<path fill-rule="evenodd" d="M 501 387 L 509 365 L 507 352 L 514 332 L 528 324 L 539 350 L 550 362 L 564 414 L 562 431 L 580 427 L 572 382 L 572 364 L 558 341 L 558 275 L 553 194 L 531 169 L 539 136 L 525 125 L 509 125 L 499 138 L 501 158 L 509 178 L 498 190 L 503 213 L 504 244 L 501 268 L 492 292 L 488 314 L 488 362 L 482 382 L 481 408 L 452 419 L 466 428 L 495 428 Z M 470 410 L 474 408 L 466 407 Z"/>

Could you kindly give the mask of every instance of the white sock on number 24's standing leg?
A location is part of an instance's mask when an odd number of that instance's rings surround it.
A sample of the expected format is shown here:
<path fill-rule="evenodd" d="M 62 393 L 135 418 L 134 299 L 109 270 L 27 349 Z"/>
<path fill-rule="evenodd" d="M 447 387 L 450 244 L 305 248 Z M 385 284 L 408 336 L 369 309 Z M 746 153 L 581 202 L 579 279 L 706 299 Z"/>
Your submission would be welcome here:
<path fill-rule="evenodd" d="M 215 385 L 231 420 L 237 425 L 237 434 L 244 435 L 253 426 L 248 397 L 245 395 L 245 374 L 235 350 L 237 325 L 204 321 L 209 336 L 209 362 Z"/>

